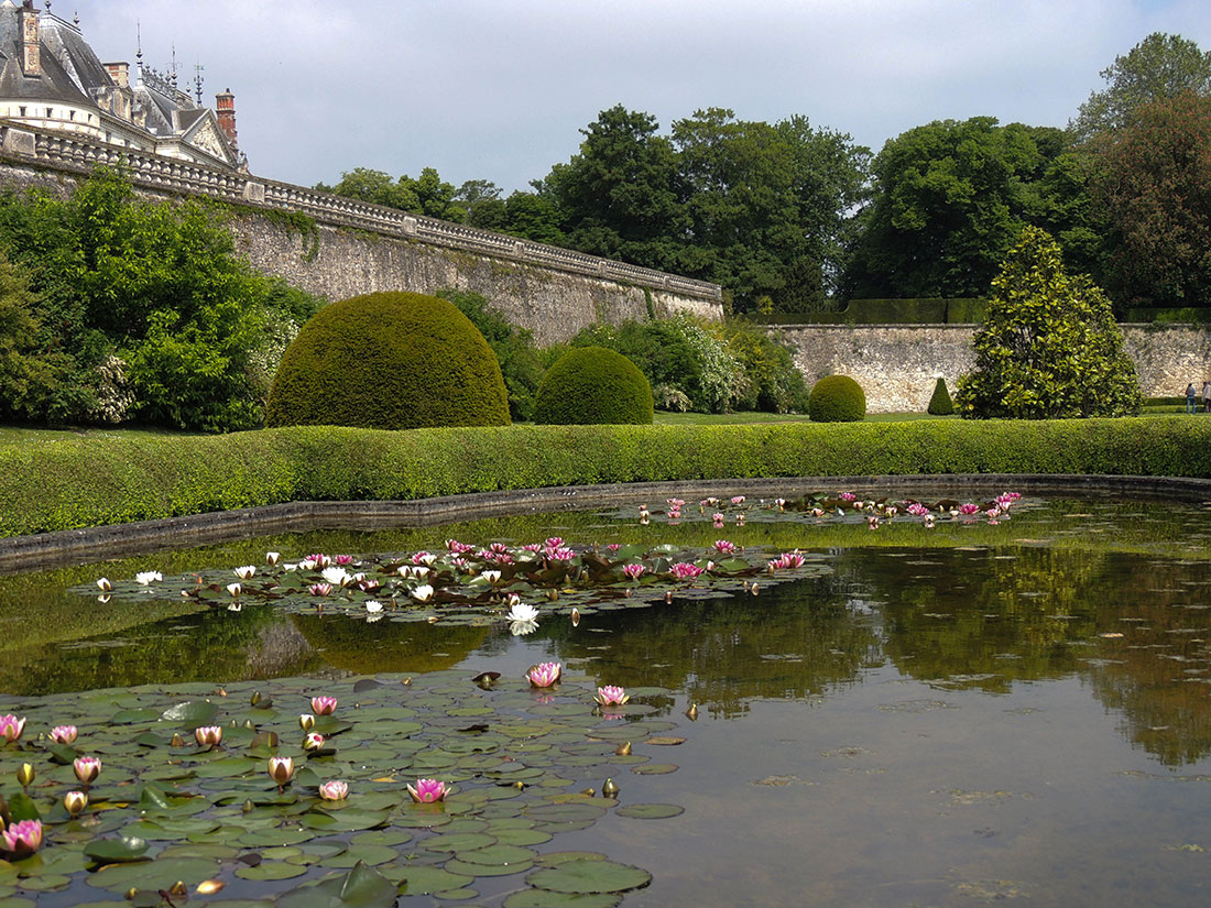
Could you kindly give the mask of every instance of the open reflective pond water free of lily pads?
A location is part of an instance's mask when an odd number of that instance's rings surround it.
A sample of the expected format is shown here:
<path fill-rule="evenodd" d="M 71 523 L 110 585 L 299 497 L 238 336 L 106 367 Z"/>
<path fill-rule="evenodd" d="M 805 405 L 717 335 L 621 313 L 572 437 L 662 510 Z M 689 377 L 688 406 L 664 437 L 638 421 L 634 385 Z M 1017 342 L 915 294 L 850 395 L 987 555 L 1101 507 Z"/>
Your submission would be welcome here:
<path fill-rule="evenodd" d="M 139 607 L 154 619 L 144 622 L 63 592 L 133 563 L 8 577 L 0 689 L 446 667 L 520 677 L 558 660 L 602 684 L 673 691 L 661 712 L 687 739 L 666 748 L 678 771 L 619 780 L 622 803 L 684 815 L 609 817 L 552 843 L 652 869 L 625 906 L 1203 906 L 1209 525 L 1196 507 L 1100 502 L 1040 504 L 1000 527 L 935 536 L 893 525 L 876 546 L 865 528 L 750 525 L 729 538 L 786 548 L 793 531 L 831 571 L 757 597 L 598 613 L 578 628 L 552 619 L 516 638 L 500 626 L 369 626 L 268 608 Z M 552 527 L 578 544 L 719 535 L 561 515 L 276 538 L 140 567 L 235 565 L 269 547 L 419 548 L 452 531 L 526 542 Z M 33 620 L 38 602 L 45 614 Z M 104 632 L 88 634 L 90 622 Z"/>

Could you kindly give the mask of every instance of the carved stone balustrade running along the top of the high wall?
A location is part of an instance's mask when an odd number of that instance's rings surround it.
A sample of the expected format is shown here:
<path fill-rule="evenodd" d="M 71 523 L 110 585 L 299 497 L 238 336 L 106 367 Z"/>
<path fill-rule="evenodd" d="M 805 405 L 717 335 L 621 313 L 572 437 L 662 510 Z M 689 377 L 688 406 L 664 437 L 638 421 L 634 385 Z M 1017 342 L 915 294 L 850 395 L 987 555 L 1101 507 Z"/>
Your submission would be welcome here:
<path fill-rule="evenodd" d="M 723 298 L 719 286 L 706 281 L 411 214 L 289 183 L 223 171 L 121 145 L 90 142 L 84 137 L 24 123 L 0 121 L 0 160 L 70 173 L 88 173 L 94 167 L 108 166 L 121 169 L 136 186 L 156 192 L 205 195 L 266 209 L 300 212 L 323 224 L 667 291 L 712 303 Z"/>

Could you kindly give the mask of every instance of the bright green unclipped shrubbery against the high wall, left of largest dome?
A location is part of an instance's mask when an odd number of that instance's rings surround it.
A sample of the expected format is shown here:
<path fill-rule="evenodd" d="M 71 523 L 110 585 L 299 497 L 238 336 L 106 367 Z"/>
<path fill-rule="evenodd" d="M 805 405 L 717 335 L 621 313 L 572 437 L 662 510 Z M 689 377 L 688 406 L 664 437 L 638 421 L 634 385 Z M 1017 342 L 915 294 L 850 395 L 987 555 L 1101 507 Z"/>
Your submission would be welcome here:
<path fill-rule="evenodd" d="M 0 194 L 0 254 L 31 291 L 25 343 L 52 351 L 12 415 L 258 425 L 281 350 L 318 301 L 253 271 L 225 219 L 211 202 L 144 199 L 104 168 L 67 199 Z"/>

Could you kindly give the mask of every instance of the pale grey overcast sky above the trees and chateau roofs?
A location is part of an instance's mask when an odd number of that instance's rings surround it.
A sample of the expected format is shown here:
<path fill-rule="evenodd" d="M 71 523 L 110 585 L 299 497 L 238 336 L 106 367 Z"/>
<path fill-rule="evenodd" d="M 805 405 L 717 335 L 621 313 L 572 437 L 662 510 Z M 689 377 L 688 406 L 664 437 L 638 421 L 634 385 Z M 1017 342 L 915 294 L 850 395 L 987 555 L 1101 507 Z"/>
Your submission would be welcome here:
<path fill-rule="evenodd" d="M 41 0 L 39 0 L 41 5 Z M 205 67 L 253 173 L 436 167 L 506 192 L 624 104 L 803 114 L 878 151 L 932 120 L 1064 126 L 1152 31 L 1211 48 L 1206 0 L 67 0 L 103 61 Z"/>

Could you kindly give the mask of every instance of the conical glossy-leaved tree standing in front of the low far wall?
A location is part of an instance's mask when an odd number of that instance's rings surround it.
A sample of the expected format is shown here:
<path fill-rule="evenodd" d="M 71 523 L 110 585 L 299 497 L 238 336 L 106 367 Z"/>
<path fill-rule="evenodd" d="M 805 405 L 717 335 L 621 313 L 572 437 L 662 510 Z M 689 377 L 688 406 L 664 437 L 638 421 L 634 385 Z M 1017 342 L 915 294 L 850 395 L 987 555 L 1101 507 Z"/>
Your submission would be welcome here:
<path fill-rule="evenodd" d="M 964 416 L 1118 416 L 1141 406 L 1135 367 L 1110 301 L 1086 276 L 1069 276 L 1060 247 L 1027 228 L 992 282 L 975 335 L 972 372 L 959 379 Z"/>

